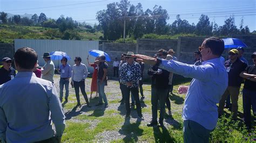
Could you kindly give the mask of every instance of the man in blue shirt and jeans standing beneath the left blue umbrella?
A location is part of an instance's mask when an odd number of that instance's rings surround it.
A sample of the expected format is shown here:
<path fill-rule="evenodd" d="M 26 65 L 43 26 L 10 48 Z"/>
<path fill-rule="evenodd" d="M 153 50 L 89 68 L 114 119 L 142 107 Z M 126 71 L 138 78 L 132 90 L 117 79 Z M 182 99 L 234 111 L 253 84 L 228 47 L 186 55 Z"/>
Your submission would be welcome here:
<path fill-rule="evenodd" d="M 60 71 L 59 99 L 60 99 L 60 102 L 62 102 L 63 89 L 64 89 L 64 85 L 65 85 L 65 89 L 66 89 L 65 102 L 68 102 L 68 97 L 69 97 L 69 78 L 72 75 L 72 70 L 71 70 L 71 66 L 67 63 L 68 59 L 66 57 L 63 57 L 61 62 L 62 62 L 62 65 L 60 65 L 60 67 L 59 67 L 59 71 Z"/>

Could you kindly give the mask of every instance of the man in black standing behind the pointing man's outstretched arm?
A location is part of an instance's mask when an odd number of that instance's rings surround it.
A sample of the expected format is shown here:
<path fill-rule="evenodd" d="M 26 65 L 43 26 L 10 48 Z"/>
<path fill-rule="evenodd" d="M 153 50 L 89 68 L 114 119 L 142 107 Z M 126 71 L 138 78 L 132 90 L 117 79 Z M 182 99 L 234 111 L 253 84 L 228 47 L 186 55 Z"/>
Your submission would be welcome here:
<path fill-rule="evenodd" d="M 157 52 L 159 58 L 165 59 L 167 52 L 164 49 L 159 49 Z M 152 66 L 147 74 L 152 76 L 151 83 L 151 104 L 152 104 L 152 121 L 147 126 L 157 125 L 157 103 L 160 102 L 160 117 L 159 125 L 164 127 L 164 114 L 165 114 L 165 101 L 166 95 L 169 91 L 169 74 L 170 72 L 164 69 L 160 69 L 156 66 Z"/>

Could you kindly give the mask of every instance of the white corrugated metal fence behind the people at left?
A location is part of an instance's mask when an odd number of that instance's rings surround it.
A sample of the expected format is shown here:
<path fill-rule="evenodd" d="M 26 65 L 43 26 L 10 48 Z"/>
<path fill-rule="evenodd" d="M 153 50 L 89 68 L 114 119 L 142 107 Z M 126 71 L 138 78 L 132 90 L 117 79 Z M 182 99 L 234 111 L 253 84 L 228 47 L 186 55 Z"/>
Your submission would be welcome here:
<path fill-rule="evenodd" d="M 86 58 L 90 50 L 99 49 L 99 41 L 15 39 L 15 51 L 22 47 L 30 47 L 37 52 L 38 64 L 40 66 L 45 64 L 42 58 L 44 52 L 62 51 L 67 53 L 72 59 L 68 61 L 70 65 L 74 65 L 73 59 L 75 59 L 76 56 L 80 56 L 82 63 L 87 66 L 89 72 L 92 72 L 93 68 L 89 68 Z M 94 57 L 89 57 L 90 62 L 95 61 Z M 53 62 L 56 68 L 58 65 L 61 65 L 58 60 L 53 60 Z"/>

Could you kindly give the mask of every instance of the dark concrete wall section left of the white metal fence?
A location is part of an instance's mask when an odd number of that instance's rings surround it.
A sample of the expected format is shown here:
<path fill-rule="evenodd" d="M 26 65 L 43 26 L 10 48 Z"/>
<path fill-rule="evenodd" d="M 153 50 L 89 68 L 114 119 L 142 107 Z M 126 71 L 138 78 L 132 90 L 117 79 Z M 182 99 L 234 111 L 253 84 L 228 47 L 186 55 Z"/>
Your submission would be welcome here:
<path fill-rule="evenodd" d="M 14 58 L 14 44 L 5 44 L 0 43 L 0 59 L 2 60 L 4 57 L 9 57 L 11 59 Z M 2 65 L 2 63 L 0 63 Z"/>

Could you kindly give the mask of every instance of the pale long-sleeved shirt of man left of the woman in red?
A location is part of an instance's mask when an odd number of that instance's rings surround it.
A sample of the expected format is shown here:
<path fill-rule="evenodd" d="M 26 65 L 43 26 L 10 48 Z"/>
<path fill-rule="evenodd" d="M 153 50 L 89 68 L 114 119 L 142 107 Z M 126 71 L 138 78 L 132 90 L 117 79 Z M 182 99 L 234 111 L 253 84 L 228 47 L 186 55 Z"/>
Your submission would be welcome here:
<path fill-rule="evenodd" d="M 76 64 L 73 65 L 71 81 L 79 82 L 85 79 L 87 76 L 88 76 L 88 70 L 83 63 L 80 63 L 79 66 L 77 66 Z"/>

